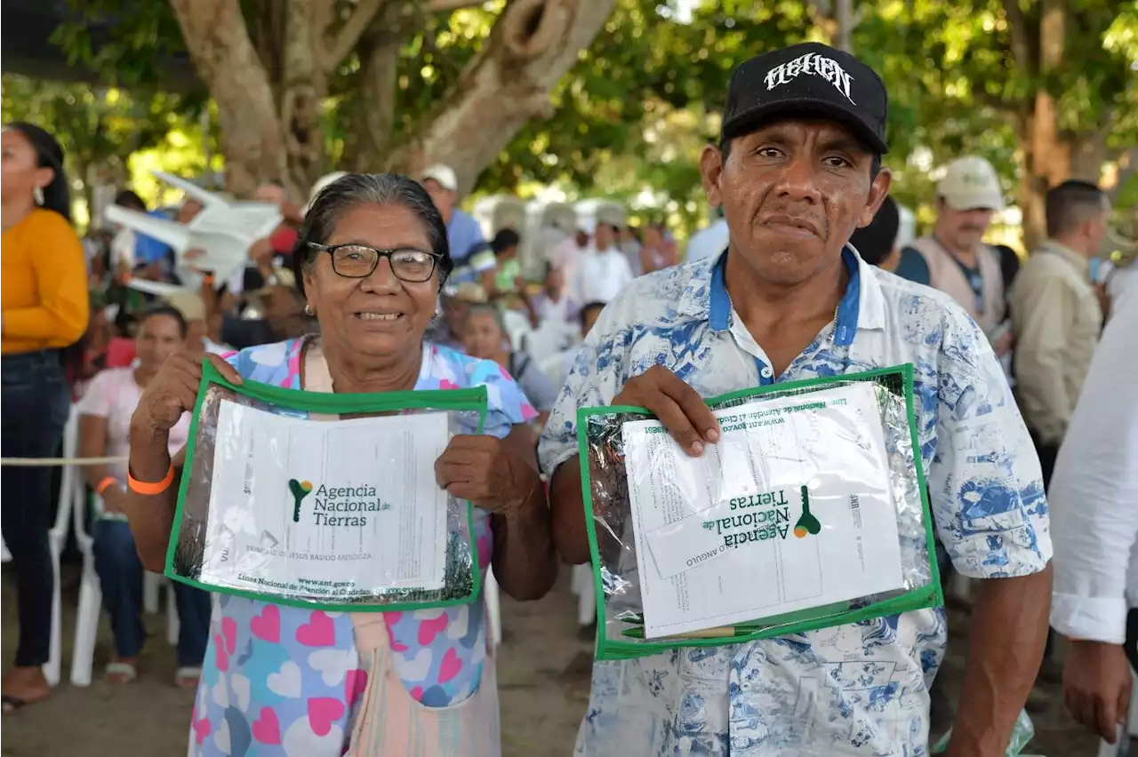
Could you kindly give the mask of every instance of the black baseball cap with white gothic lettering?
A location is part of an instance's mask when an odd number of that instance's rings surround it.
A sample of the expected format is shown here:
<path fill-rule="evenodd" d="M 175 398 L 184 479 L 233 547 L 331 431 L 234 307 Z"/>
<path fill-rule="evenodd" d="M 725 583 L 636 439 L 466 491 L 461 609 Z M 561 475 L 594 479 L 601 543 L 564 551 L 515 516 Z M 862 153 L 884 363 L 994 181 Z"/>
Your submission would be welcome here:
<path fill-rule="evenodd" d="M 754 56 L 731 76 L 720 139 L 783 114 L 814 114 L 853 130 L 874 150 L 885 144 L 889 94 L 876 72 L 848 52 L 803 42 Z"/>

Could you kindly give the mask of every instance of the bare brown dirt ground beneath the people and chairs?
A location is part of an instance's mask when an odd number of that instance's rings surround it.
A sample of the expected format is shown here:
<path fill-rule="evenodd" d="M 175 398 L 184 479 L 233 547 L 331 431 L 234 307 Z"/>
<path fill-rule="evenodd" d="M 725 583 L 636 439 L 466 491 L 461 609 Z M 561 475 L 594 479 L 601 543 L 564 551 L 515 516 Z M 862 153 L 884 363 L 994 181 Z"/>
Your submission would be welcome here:
<path fill-rule="evenodd" d="M 65 566 L 65 681 L 71 672 L 77 577 L 75 566 Z M 577 639 L 575 598 L 568 589 L 568 571 L 562 572 L 558 588 L 544 600 L 516 604 L 503 597 L 502 612 L 505 640 L 500 652 L 498 682 L 504 756 L 568 757 L 588 701 L 592 663 L 592 646 Z M 193 693 L 173 687 L 174 659 L 163 638 L 162 615 L 149 616 L 147 623 L 150 641 L 143 652 L 138 681 L 125 687 L 109 687 L 100 680 L 99 671 L 110 649 L 109 630 L 104 622 L 92 685 L 77 689 L 64 683 L 50 701 L 0 721 L 0 757 L 184 755 Z M 949 627 L 953 642 L 941 675 L 949 699 L 955 701 L 964 668 L 967 614 L 951 610 Z M 10 569 L 0 568 L 0 660 L 3 665 L 11 659 L 15 641 L 16 609 Z M 1032 714 L 1037 738 L 1028 751 L 1046 757 L 1092 757 L 1096 741 L 1066 715 L 1058 687 L 1047 687 L 1045 693 L 1049 702 L 1042 712 Z"/>

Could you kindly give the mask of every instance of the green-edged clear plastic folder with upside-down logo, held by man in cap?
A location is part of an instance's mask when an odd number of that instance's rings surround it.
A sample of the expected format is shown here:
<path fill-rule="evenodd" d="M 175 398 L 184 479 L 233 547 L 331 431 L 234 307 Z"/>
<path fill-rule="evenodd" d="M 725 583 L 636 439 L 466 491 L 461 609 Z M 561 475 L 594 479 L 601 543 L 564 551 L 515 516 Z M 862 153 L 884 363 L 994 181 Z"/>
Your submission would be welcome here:
<path fill-rule="evenodd" d="M 708 404 L 698 458 L 642 408 L 578 414 L 600 659 L 941 604 L 912 366 Z"/>

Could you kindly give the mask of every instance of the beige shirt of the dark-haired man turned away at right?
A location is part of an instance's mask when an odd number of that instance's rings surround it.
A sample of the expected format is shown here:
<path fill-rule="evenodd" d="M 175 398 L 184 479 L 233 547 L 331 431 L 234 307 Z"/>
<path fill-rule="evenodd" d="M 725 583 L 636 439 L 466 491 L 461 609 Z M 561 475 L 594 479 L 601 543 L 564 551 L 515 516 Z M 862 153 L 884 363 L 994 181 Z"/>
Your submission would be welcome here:
<path fill-rule="evenodd" d="M 1058 443 L 1103 328 L 1087 258 L 1048 241 L 1015 280 L 1012 318 L 1023 417 L 1044 442 Z"/>

